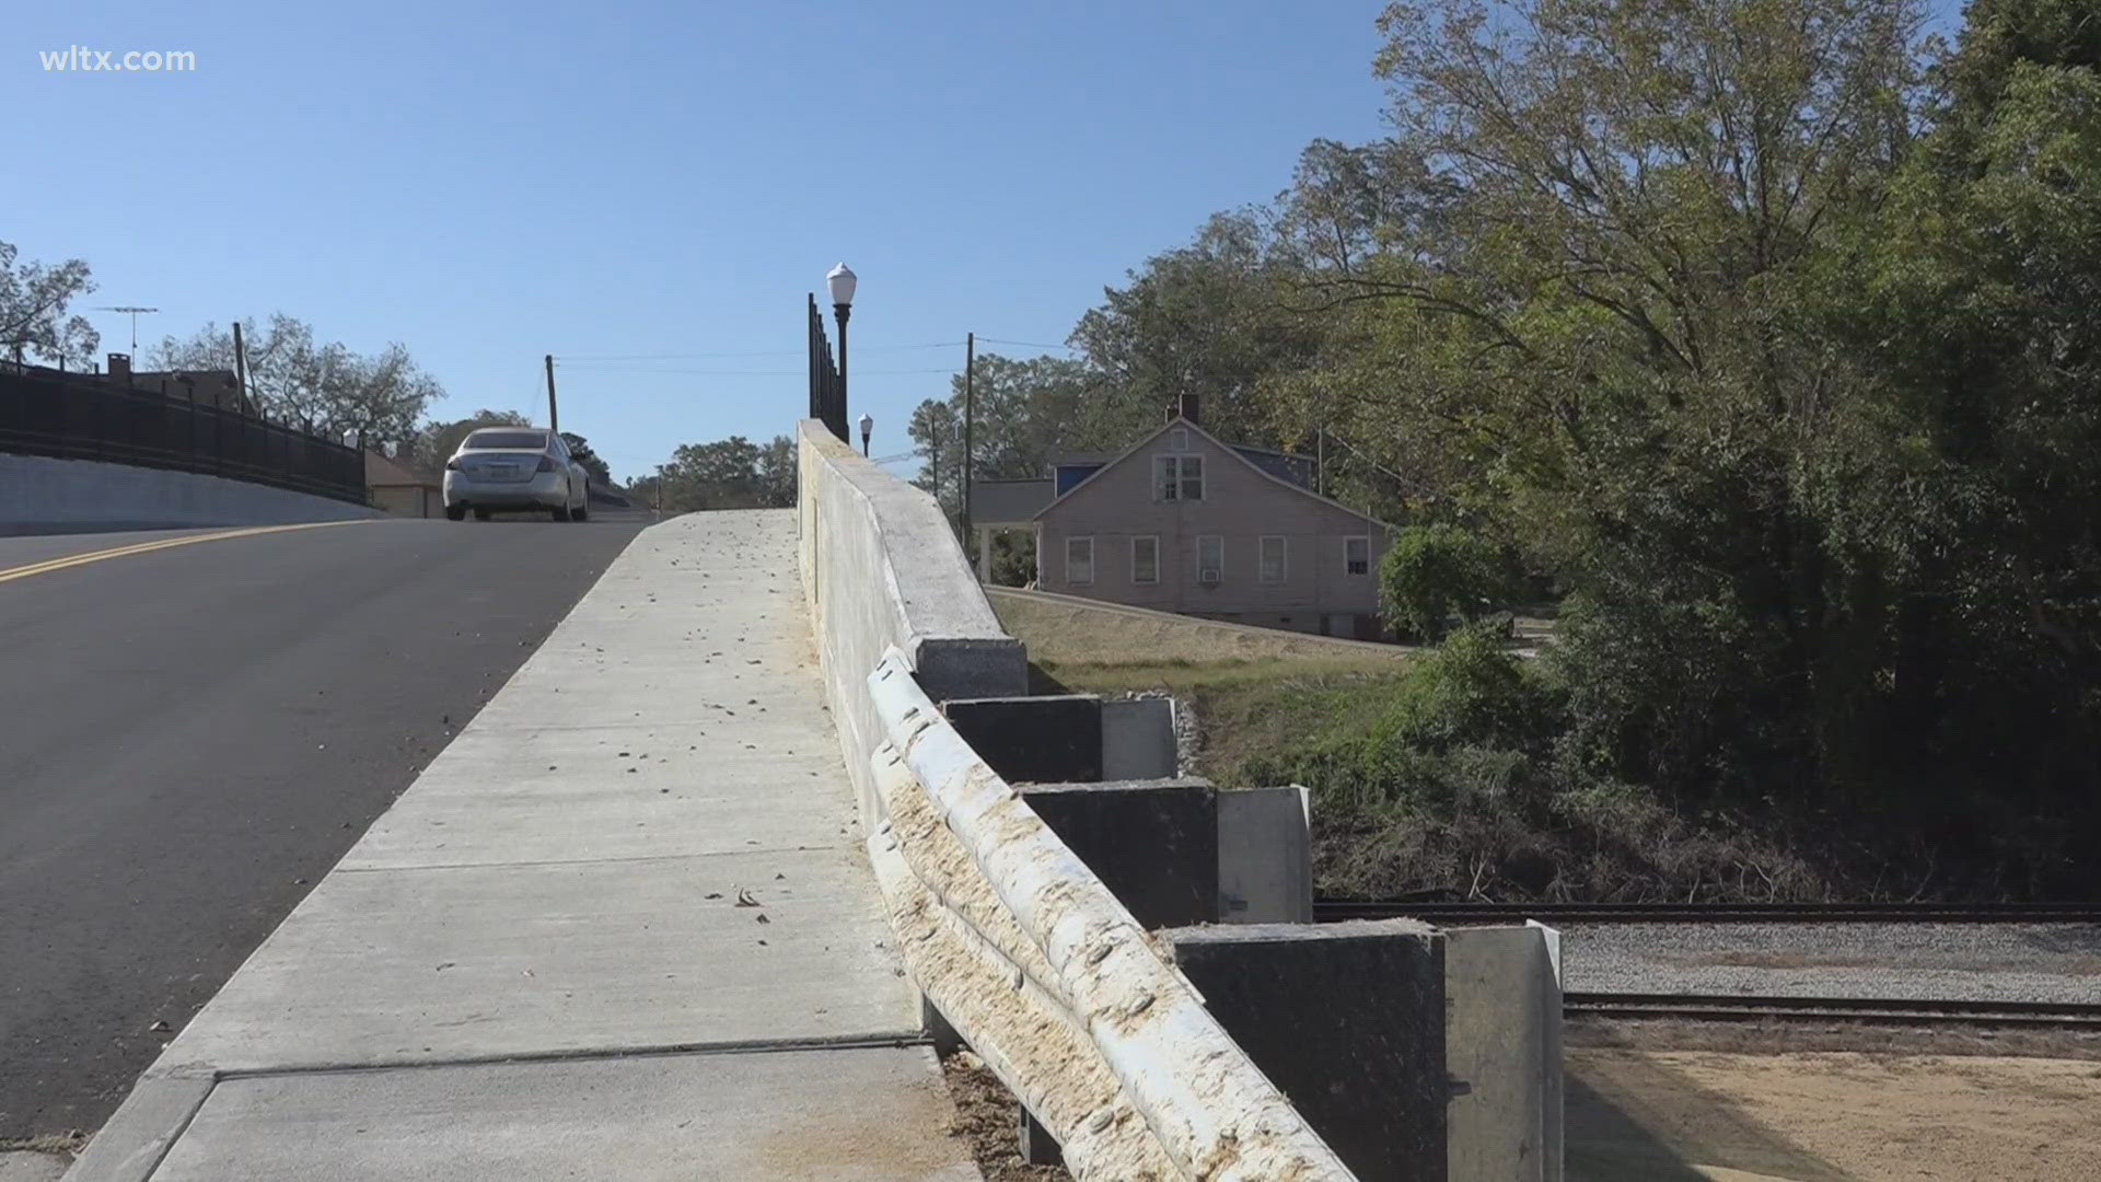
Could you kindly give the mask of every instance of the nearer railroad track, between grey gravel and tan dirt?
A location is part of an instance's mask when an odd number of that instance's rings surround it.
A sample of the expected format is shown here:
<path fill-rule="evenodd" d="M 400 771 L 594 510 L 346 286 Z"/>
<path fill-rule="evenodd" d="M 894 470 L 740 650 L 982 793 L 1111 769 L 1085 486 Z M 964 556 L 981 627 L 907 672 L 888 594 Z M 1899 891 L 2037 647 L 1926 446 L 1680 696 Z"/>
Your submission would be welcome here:
<path fill-rule="evenodd" d="M 1567 993 L 1567 1016 L 1696 1022 L 1830 1020 L 1876 1026 L 2101 1028 L 2101 1005 L 2057 1001 L 1914 1001 L 1866 997 L 1704 997 L 1689 993 Z"/>

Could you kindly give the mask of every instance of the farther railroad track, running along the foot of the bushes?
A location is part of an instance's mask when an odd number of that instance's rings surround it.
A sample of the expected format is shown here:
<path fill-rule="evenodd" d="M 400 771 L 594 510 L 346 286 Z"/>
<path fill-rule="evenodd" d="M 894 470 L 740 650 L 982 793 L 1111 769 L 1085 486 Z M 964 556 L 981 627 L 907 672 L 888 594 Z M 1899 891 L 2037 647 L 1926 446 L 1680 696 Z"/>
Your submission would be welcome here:
<path fill-rule="evenodd" d="M 2101 923 L 2101 902 L 1378 902 L 1319 900 L 1313 919 L 1427 923 Z"/>

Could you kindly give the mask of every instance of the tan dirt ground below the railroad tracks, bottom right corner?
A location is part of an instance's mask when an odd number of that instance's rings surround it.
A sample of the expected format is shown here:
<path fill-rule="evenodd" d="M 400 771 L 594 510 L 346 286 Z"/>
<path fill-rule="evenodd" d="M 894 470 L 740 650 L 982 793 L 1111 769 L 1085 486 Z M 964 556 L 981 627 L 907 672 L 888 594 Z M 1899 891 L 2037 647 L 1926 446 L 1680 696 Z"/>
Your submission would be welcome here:
<path fill-rule="evenodd" d="M 1569 1047 L 1572 1182 L 2101 1178 L 2101 1062 Z"/>

